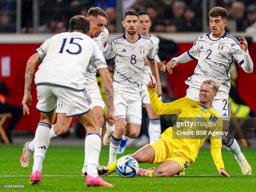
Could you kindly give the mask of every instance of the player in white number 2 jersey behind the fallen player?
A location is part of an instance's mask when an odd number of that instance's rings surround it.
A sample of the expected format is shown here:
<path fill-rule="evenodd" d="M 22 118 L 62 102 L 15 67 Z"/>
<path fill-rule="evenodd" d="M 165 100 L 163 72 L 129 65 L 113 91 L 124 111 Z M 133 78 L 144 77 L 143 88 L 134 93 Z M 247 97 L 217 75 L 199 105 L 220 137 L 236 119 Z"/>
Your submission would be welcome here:
<path fill-rule="evenodd" d="M 209 77 L 216 79 L 220 84 L 217 97 L 213 106 L 223 119 L 223 131 L 229 130 L 230 105 L 228 102 L 230 90 L 230 72 L 236 60 L 246 73 L 252 73 L 253 61 L 248 52 L 246 39 L 241 36 L 238 40 L 225 31 L 228 13 L 222 7 L 214 7 L 209 12 L 211 32 L 199 35 L 193 47 L 188 51 L 173 58 L 167 63 L 166 69 L 172 73 L 172 68 L 177 63 L 186 63 L 198 60 L 194 75 L 189 77 L 186 97 L 198 99 L 200 83 Z M 252 167 L 247 162 L 234 137 L 222 136 L 222 144 L 235 155 L 241 171 L 245 175 L 252 174 Z"/>

